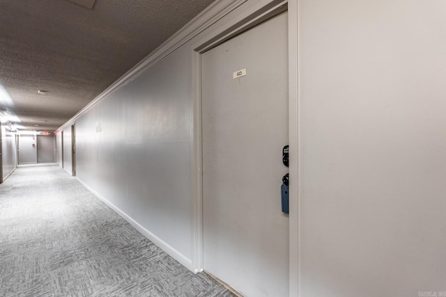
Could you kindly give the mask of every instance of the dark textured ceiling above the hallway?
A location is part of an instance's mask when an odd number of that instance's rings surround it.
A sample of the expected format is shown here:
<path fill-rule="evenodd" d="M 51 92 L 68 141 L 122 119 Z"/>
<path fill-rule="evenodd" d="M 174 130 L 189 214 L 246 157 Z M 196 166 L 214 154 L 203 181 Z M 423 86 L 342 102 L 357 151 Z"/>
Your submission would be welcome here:
<path fill-rule="evenodd" d="M 0 0 L 0 113 L 54 131 L 212 2 Z"/>

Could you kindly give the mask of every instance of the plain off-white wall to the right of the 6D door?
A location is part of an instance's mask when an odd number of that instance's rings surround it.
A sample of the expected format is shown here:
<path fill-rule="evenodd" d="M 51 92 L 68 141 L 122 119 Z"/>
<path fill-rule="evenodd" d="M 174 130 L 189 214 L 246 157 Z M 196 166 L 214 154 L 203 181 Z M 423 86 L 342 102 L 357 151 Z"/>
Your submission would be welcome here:
<path fill-rule="evenodd" d="M 300 296 L 440 296 L 446 1 L 298 12 Z"/>

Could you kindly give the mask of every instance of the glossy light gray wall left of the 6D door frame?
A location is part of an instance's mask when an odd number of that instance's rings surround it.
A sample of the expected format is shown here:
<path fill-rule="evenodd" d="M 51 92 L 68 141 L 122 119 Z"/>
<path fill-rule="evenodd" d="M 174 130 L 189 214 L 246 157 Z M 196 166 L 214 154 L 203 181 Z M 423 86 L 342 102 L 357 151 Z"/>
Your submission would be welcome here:
<path fill-rule="evenodd" d="M 171 54 L 79 118 L 76 129 L 77 177 L 190 259 L 187 57 Z"/>

